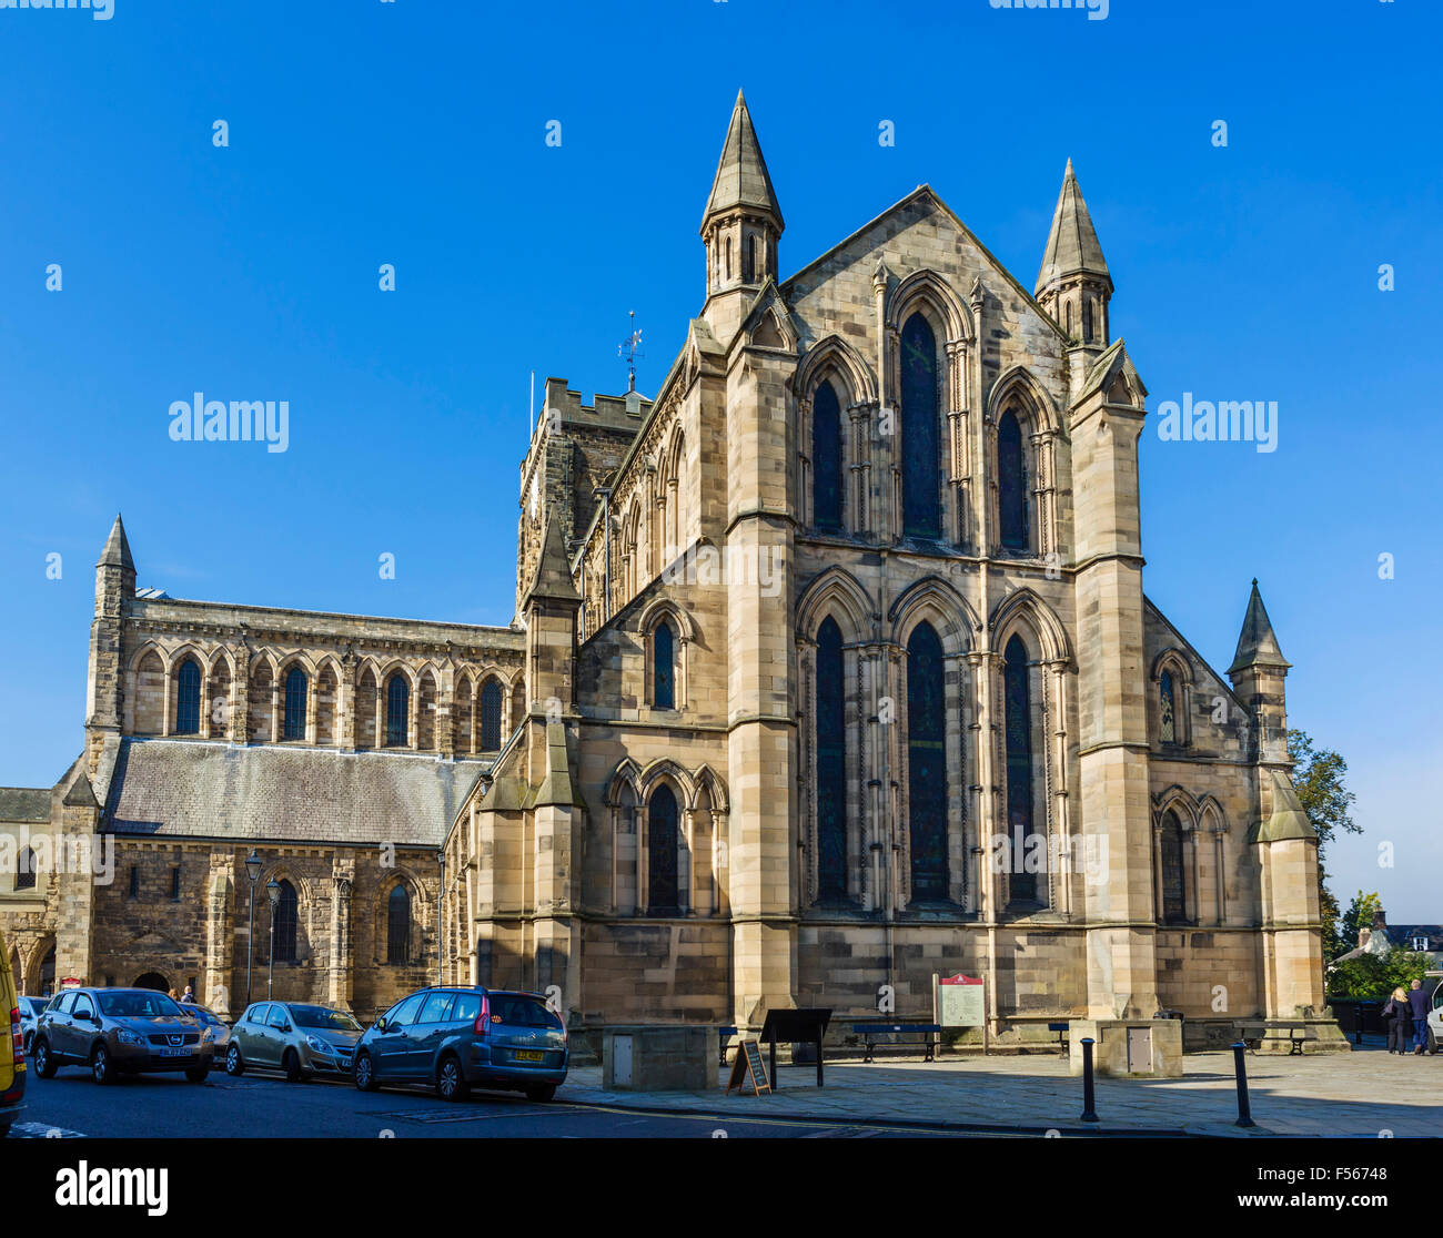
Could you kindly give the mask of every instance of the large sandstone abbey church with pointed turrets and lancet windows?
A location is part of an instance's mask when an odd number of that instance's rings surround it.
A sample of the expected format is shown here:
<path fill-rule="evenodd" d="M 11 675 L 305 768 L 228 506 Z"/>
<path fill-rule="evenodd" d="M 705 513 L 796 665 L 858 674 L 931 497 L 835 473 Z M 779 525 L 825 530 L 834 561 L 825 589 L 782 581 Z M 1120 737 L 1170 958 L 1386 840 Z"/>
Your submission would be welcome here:
<path fill-rule="evenodd" d="M 137 589 L 117 518 L 84 750 L 0 789 L 25 991 L 756 1027 L 931 1022 L 965 973 L 994 1043 L 1320 1010 L 1289 662 L 1255 581 L 1222 672 L 1143 592 L 1146 388 L 1071 163 L 1030 291 L 928 186 L 786 278 L 784 232 L 739 95 L 655 397 L 545 384 L 511 626 Z"/>

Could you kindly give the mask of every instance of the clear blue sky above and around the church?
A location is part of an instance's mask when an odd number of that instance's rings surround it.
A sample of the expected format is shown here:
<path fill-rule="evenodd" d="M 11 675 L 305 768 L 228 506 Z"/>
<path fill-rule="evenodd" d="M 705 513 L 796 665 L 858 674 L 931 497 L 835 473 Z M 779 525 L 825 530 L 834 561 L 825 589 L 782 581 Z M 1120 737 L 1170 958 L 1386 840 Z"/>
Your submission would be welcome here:
<path fill-rule="evenodd" d="M 505 623 L 530 372 L 625 390 L 635 309 L 655 390 L 742 87 L 784 276 L 926 182 L 1030 287 L 1074 159 L 1149 408 L 1278 404 L 1271 453 L 1144 436 L 1147 592 L 1221 670 L 1258 577 L 1338 892 L 1443 919 L 1436 4 L 114 6 L 0 9 L 0 783 L 79 750 L 117 511 L 176 596 Z M 289 450 L 172 442 L 195 391 Z"/>

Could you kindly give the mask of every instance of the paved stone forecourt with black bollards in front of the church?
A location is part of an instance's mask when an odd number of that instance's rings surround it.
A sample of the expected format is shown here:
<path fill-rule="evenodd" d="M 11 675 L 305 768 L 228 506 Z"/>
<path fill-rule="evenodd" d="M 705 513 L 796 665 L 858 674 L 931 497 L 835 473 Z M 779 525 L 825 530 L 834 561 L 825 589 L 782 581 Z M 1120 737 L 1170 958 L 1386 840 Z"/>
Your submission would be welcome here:
<path fill-rule="evenodd" d="M 763 1052 L 765 1058 L 765 1052 Z M 1097 1079 L 1098 1133 L 1150 1136 L 1443 1136 L 1443 1055 L 1398 1058 L 1381 1046 L 1352 1053 L 1289 1058 L 1247 1055 L 1251 1131 L 1237 1123 L 1232 1053 L 1189 1053 L 1180 1079 Z M 723 1076 L 727 1072 L 723 1072 Z M 828 1063 L 825 1086 L 814 1068 L 782 1066 L 772 1095 L 608 1092 L 600 1068 L 573 1069 L 564 1095 L 574 1102 L 626 1104 L 652 1111 L 814 1117 L 947 1124 L 971 1130 L 1075 1134 L 1082 1079 L 1055 1055 L 885 1063 Z"/>

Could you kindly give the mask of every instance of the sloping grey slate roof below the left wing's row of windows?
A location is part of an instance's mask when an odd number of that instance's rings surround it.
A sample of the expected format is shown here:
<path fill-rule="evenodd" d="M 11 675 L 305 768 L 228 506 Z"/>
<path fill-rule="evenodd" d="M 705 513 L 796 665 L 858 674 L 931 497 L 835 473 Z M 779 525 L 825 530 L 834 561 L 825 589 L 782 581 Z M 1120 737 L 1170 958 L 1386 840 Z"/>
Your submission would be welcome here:
<path fill-rule="evenodd" d="M 105 804 L 121 835 L 440 847 L 485 763 L 124 739 Z"/>

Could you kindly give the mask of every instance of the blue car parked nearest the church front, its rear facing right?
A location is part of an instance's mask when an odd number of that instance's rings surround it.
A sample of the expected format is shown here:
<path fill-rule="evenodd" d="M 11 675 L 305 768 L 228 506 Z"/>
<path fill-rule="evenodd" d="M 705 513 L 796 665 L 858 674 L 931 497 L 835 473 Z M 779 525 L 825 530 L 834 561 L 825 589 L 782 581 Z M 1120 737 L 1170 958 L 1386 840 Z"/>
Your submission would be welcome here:
<path fill-rule="evenodd" d="M 362 1092 L 431 1084 L 459 1101 L 479 1085 L 550 1101 L 567 1063 L 566 1024 L 545 998 L 450 985 L 413 993 L 377 1019 L 356 1045 L 352 1078 Z"/>

